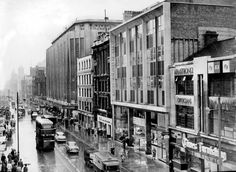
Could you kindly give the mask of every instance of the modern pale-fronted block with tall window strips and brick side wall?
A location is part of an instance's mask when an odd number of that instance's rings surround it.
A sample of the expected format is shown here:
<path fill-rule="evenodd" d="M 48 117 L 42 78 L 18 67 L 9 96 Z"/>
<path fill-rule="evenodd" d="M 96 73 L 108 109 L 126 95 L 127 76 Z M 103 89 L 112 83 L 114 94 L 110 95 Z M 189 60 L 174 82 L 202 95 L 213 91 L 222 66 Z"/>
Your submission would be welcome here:
<path fill-rule="evenodd" d="M 163 1 L 111 30 L 115 139 L 134 137 L 134 146 L 147 154 L 155 149 L 157 158 L 168 160 L 167 131 L 172 125 L 170 114 L 174 113 L 169 67 L 210 44 L 211 39 L 204 42 L 207 31 L 216 31 L 218 40 L 235 34 L 236 20 L 232 16 L 236 10 L 233 1 L 228 2 Z M 207 36 L 211 38 L 211 34 Z M 189 115 L 187 119 L 183 130 L 197 133 L 195 118 Z"/>

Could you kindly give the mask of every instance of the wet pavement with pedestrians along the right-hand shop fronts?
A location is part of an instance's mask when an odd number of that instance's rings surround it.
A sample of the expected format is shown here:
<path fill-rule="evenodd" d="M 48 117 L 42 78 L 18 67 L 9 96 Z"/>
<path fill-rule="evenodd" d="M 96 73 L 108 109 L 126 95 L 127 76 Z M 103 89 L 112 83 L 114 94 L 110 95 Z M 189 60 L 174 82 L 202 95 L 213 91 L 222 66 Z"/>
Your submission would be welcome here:
<path fill-rule="evenodd" d="M 110 151 L 111 147 L 115 147 L 115 156 L 118 159 L 123 153 L 122 143 L 118 141 L 112 141 L 109 138 L 102 136 L 88 135 L 84 129 L 79 131 L 78 127 L 66 129 L 64 126 L 60 126 L 65 132 L 69 132 L 71 135 L 77 137 L 88 145 L 94 147 L 99 151 Z M 126 158 L 122 162 L 122 169 L 125 171 L 133 172 L 169 172 L 169 166 L 159 160 L 152 160 L 151 155 L 146 155 L 144 152 L 135 150 L 133 147 L 126 147 Z"/>

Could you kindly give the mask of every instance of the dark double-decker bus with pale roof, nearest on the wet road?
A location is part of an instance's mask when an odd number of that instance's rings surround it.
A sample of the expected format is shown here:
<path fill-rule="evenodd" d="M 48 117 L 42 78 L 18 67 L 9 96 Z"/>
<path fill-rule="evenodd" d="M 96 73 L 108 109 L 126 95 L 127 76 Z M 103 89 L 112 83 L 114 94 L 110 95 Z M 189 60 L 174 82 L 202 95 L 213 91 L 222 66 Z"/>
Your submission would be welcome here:
<path fill-rule="evenodd" d="M 56 128 L 49 119 L 36 118 L 36 148 L 38 150 L 53 150 L 55 147 Z"/>

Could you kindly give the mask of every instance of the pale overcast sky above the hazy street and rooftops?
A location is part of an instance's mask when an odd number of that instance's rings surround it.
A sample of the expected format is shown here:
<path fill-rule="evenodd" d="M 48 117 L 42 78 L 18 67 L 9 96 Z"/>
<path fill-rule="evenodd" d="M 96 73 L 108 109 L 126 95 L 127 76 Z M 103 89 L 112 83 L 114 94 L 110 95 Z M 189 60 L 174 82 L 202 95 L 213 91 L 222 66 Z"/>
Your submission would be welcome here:
<path fill-rule="evenodd" d="M 158 0 L 0 0 L 0 89 L 13 70 L 46 58 L 51 41 L 76 18 L 122 19 Z"/>

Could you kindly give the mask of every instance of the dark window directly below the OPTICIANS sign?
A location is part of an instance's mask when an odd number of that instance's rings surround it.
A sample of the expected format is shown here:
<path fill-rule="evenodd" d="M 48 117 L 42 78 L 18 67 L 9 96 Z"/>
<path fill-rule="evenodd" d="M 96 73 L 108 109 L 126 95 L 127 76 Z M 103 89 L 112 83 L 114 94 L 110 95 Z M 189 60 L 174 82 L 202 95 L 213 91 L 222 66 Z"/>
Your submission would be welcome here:
<path fill-rule="evenodd" d="M 189 106 L 176 106 L 177 126 L 194 129 L 194 109 Z"/>

